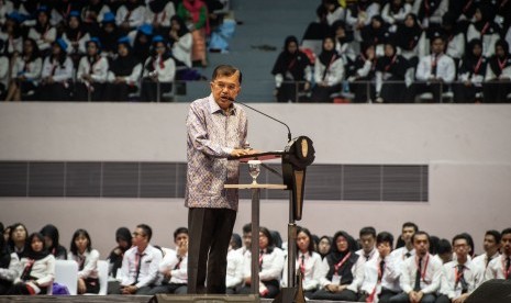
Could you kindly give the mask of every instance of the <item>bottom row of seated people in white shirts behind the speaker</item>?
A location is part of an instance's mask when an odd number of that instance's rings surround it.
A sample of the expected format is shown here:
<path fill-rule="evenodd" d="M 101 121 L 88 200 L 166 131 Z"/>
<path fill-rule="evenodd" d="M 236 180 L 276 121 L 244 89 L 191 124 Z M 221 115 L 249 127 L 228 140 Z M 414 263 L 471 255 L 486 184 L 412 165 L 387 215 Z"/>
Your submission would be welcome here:
<path fill-rule="evenodd" d="M 66 256 L 65 249 L 53 242 L 56 228 L 49 227 L 53 234 L 47 233 L 46 239 L 37 233 L 26 237 L 27 232 L 22 224 L 9 228 L 11 250 L 2 247 L 2 260 L 7 260 L 2 263 L 4 270 L 0 271 L 2 285 L 14 281 L 8 288 L 11 294 L 44 290 L 53 278 L 55 256 Z M 22 240 L 23 235 L 27 239 Z M 49 235 L 53 235 L 53 239 Z M 484 281 L 511 279 L 511 228 L 501 233 L 488 231 L 484 242 L 485 254 L 480 256 L 475 255 L 474 240 L 466 233 L 456 235 L 451 246 L 446 239 L 433 240 L 435 237 L 419 231 L 410 222 L 402 225 L 398 240 L 402 246 L 397 249 L 392 249 L 393 236 L 390 233 L 377 234 L 374 227 L 362 228 L 358 240 L 345 232 L 337 232 L 332 238 L 323 236 L 319 239 L 303 227 L 299 228 L 297 235 L 297 243 L 293 244 L 298 250 L 296 270 L 303 277 L 302 284 L 309 299 L 464 302 Z M 109 283 L 109 293 L 187 292 L 188 229 L 180 227 L 175 231 L 176 249 L 153 246 L 151 237 L 152 229 L 145 224 L 137 225 L 133 233 L 127 228 L 118 231 L 119 246 L 109 256 L 111 274 L 115 278 Z M 263 298 L 275 298 L 281 287 L 288 285 L 286 250 L 279 247 L 279 239 L 275 233 L 260 228 L 258 276 Z M 45 240 L 49 242 L 48 247 L 54 247 L 49 251 L 45 250 Z M 227 293 L 251 292 L 252 232 L 248 224 L 243 228 L 243 242 L 242 247 L 241 237 L 233 235 L 227 255 Z M 18 266 L 19 256 L 21 266 Z M 80 263 L 80 293 L 95 292 L 93 287 L 98 283 L 95 263 L 99 252 L 91 248 L 90 237 L 84 229 L 75 233 L 68 257 Z M 30 273 L 31 268 L 34 276 L 24 277 L 26 274 L 23 272 Z M 90 277 L 84 276 L 85 272 Z"/>

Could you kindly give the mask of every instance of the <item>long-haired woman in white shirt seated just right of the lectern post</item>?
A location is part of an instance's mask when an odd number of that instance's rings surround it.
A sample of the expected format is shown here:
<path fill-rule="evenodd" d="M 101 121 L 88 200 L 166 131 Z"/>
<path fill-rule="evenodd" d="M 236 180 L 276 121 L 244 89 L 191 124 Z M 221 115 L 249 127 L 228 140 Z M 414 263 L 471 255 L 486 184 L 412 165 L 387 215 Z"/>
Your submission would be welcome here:
<path fill-rule="evenodd" d="M 296 270 L 301 272 L 302 288 L 304 295 L 311 299 L 320 285 L 322 278 L 322 259 L 320 254 L 314 251 L 314 242 L 309 229 L 299 227 L 297 231 L 297 261 Z M 288 268 L 284 268 L 282 288 L 288 285 Z"/>

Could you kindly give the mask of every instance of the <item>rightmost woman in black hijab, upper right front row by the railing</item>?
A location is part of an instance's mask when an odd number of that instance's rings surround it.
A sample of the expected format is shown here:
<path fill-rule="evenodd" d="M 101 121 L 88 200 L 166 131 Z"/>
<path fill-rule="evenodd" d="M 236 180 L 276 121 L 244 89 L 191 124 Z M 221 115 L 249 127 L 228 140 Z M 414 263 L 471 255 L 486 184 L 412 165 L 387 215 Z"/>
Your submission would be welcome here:
<path fill-rule="evenodd" d="M 500 40 L 495 45 L 495 55 L 491 56 L 486 69 L 485 103 L 509 102 L 511 93 L 511 54 L 506 41 Z"/>

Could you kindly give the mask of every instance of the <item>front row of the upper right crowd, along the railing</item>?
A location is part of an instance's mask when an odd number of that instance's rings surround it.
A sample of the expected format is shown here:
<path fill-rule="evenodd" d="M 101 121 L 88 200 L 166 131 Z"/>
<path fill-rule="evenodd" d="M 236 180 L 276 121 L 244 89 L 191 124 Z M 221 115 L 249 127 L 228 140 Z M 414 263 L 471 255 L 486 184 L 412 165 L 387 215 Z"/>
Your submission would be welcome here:
<path fill-rule="evenodd" d="M 407 59 L 389 40 L 381 45 L 364 44 L 351 59 L 338 49 L 338 41 L 327 36 L 314 64 L 290 36 L 275 63 L 273 74 L 279 102 L 333 102 L 338 97 L 353 102 L 412 103 L 430 92 L 432 102 L 445 94 L 457 103 L 511 102 L 511 54 L 506 41 L 495 44 L 495 54 L 485 57 L 480 40 L 468 43 L 467 53 L 456 61 L 445 53 L 446 40 L 431 40 L 431 54 Z M 419 100 L 420 102 L 420 100 Z"/>

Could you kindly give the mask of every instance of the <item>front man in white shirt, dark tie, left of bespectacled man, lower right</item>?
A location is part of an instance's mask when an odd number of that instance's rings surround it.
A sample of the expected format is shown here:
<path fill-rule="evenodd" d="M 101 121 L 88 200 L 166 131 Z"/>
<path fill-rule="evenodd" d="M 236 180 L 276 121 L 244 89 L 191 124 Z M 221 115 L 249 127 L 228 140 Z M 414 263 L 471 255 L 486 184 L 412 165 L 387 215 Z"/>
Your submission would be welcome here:
<path fill-rule="evenodd" d="M 390 298 L 391 303 L 434 303 L 440 289 L 442 262 L 430 255 L 430 235 L 419 231 L 412 237 L 415 257 L 402 265 L 399 283 L 402 293 Z"/>

